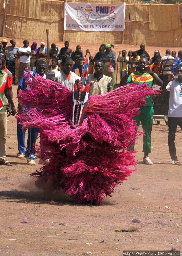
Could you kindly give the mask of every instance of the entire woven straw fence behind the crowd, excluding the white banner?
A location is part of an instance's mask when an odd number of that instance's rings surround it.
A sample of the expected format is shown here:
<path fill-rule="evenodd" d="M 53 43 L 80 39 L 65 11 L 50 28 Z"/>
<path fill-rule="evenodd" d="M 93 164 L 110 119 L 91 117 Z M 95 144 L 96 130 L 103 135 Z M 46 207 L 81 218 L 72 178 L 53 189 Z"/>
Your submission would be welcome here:
<path fill-rule="evenodd" d="M 7 1 L 7 0 L 5 0 Z M 74 2 L 87 2 L 76 0 Z M 96 0 L 91 0 L 96 2 Z M 100 4 L 118 4 L 122 0 L 98 0 Z M 0 1 L 1 28 L 6 20 L 4 37 L 46 40 L 49 28 L 51 41 L 76 43 L 112 42 L 113 44 L 140 44 L 152 46 L 181 46 L 180 4 L 143 4 L 126 0 L 124 31 L 64 31 L 64 1 L 59 0 L 8 0 L 5 13 Z M 4 14 L 5 13 L 5 14 Z M 1 31 L 2 35 L 3 31 Z"/>

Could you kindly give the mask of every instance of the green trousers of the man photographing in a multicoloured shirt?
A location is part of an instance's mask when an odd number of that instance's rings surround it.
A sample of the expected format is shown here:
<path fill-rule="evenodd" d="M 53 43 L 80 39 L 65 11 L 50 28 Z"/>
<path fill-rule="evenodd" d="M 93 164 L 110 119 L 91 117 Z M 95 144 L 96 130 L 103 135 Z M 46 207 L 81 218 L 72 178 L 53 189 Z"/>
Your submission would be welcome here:
<path fill-rule="evenodd" d="M 137 126 L 142 124 L 142 129 L 144 131 L 143 134 L 143 152 L 151 153 L 151 132 L 152 132 L 152 124 L 153 124 L 153 107 L 144 107 L 140 108 L 141 113 L 135 116 L 133 119 L 135 120 Z M 131 149 L 134 149 L 134 145 Z"/>

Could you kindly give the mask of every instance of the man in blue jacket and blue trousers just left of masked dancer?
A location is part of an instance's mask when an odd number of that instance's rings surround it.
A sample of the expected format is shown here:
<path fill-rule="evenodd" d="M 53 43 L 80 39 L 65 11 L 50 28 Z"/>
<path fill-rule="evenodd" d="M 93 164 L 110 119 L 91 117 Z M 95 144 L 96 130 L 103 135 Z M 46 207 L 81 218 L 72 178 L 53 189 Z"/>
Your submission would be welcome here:
<path fill-rule="evenodd" d="M 37 63 L 37 67 L 35 70 L 31 71 L 31 74 L 33 76 L 40 75 L 44 78 L 46 78 L 45 72 L 47 69 L 47 61 L 46 60 L 39 60 Z M 26 74 L 24 75 L 26 76 Z M 30 90 L 30 88 L 25 84 L 25 77 L 22 77 L 17 89 L 17 95 L 19 90 Z M 18 106 L 18 110 L 23 110 L 23 107 L 21 104 Z M 28 106 L 25 106 L 25 110 L 28 110 Z M 37 136 L 39 133 L 38 128 L 29 128 L 28 129 L 28 139 L 27 139 L 27 147 L 25 151 L 25 131 L 22 131 L 22 125 L 17 124 L 17 138 L 18 138 L 18 158 L 24 158 L 24 156 L 27 156 L 27 164 L 28 165 L 36 165 L 35 163 L 35 148 L 34 144 L 36 143 Z M 39 164 L 43 162 L 43 159 L 40 159 Z"/>

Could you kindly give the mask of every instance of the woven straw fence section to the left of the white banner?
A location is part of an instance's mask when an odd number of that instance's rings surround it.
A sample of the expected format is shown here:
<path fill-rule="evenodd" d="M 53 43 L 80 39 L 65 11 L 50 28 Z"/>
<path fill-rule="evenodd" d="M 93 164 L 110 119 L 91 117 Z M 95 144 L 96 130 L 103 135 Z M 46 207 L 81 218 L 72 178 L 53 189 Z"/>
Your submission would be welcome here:
<path fill-rule="evenodd" d="M 48 28 L 51 40 L 62 41 L 63 15 L 63 1 L 11 0 L 11 4 L 8 4 L 5 36 L 46 40 L 46 29 Z M 0 22 L 2 23 L 2 19 Z"/>

